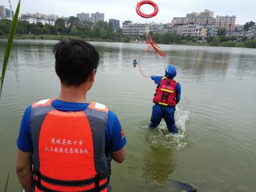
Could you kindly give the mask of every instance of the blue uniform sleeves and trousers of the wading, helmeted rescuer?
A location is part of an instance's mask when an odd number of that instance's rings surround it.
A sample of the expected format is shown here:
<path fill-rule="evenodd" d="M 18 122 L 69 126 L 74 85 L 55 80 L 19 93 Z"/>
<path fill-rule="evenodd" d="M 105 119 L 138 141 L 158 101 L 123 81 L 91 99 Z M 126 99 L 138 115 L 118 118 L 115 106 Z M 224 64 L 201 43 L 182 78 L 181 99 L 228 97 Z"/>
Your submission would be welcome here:
<path fill-rule="evenodd" d="M 151 79 L 155 81 L 157 86 L 160 85 L 163 76 L 151 76 Z M 180 83 L 176 86 L 176 103 L 180 102 L 180 93 L 181 93 L 181 86 Z M 175 118 L 174 118 L 175 107 L 173 106 L 162 106 L 159 104 L 155 104 L 152 108 L 152 116 L 151 116 L 151 124 L 149 127 L 157 127 L 162 118 L 164 118 L 166 125 L 168 127 L 169 132 L 179 133 L 176 125 L 175 125 Z"/>

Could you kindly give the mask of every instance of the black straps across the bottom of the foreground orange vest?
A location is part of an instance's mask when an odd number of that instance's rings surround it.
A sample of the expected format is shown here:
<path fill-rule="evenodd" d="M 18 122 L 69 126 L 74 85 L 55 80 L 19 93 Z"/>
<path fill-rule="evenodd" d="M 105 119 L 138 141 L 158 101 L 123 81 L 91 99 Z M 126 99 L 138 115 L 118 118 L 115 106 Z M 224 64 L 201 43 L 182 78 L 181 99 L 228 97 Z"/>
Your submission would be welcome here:
<path fill-rule="evenodd" d="M 111 175 L 111 170 L 109 170 L 107 173 L 104 173 L 102 175 L 95 175 L 95 177 L 91 178 L 91 179 L 84 179 L 84 180 L 58 180 L 58 179 L 52 179 L 50 177 L 47 177 L 45 175 L 42 175 L 40 173 L 39 170 L 36 170 L 35 175 L 37 177 L 37 180 L 35 180 L 36 186 L 38 187 L 38 189 L 40 190 L 45 190 L 43 189 L 44 186 L 42 186 L 41 184 L 41 180 L 43 180 L 44 182 L 47 182 L 49 184 L 52 185 L 56 185 L 56 186 L 67 186 L 67 187 L 79 187 L 79 186 L 88 186 L 90 184 L 95 183 L 95 189 L 93 189 L 94 191 L 97 191 L 96 189 L 99 188 L 100 190 L 102 190 L 102 186 L 99 186 L 99 182 L 100 180 L 104 180 L 104 179 L 108 179 L 109 180 L 109 176 Z M 104 189 L 104 188 L 103 188 Z M 90 191 L 86 190 L 86 192 Z M 46 190 L 48 191 L 48 190 Z"/>

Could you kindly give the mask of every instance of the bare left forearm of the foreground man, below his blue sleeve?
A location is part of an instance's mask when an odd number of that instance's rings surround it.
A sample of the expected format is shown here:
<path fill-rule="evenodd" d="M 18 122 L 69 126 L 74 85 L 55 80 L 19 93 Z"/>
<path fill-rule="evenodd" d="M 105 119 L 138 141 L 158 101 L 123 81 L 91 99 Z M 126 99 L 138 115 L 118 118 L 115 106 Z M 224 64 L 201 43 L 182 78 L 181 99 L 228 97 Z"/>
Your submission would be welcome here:
<path fill-rule="evenodd" d="M 32 153 L 18 149 L 16 172 L 21 186 L 25 191 L 31 191 L 33 185 Z"/>

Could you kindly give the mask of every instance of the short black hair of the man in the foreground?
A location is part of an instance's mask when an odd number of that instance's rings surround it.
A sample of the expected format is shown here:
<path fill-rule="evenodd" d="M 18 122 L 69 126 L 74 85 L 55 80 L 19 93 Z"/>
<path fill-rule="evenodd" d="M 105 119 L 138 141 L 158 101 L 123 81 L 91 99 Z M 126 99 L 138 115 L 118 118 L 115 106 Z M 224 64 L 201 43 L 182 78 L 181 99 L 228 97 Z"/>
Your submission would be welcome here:
<path fill-rule="evenodd" d="M 99 65 L 99 53 L 83 40 L 63 40 L 54 45 L 55 70 L 62 84 L 79 86 Z"/>

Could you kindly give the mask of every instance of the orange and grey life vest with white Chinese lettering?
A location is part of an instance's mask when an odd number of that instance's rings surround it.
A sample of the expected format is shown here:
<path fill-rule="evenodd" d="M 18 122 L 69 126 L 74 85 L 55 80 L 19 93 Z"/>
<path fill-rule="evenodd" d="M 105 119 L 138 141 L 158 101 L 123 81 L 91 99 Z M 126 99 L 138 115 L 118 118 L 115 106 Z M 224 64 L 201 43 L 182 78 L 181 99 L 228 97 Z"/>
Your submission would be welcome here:
<path fill-rule="evenodd" d="M 35 191 L 104 191 L 110 176 L 105 153 L 108 108 L 91 102 L 84 111 L 63 112 L 54 99 L 31 108 Z"/>

